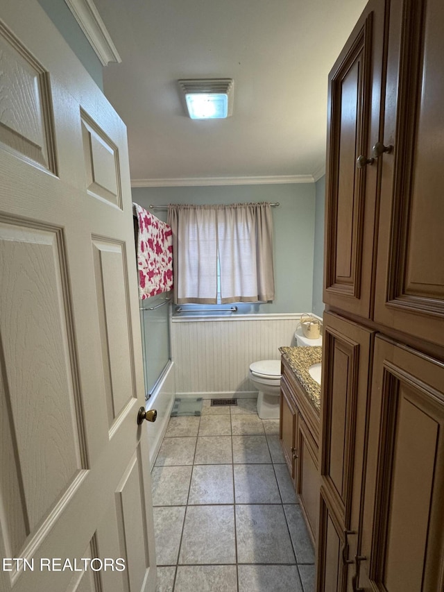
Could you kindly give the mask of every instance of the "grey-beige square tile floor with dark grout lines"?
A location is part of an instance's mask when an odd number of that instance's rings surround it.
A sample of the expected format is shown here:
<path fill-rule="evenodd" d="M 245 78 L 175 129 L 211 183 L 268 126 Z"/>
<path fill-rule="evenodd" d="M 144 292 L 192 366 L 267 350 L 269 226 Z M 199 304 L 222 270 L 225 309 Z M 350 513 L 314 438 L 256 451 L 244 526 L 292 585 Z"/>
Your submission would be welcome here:
<path fill-rule="evenodd" d="M 313 592 L 279 421 L 255 399 L 171 418 L 151 477 L 157 592 Z"/>

